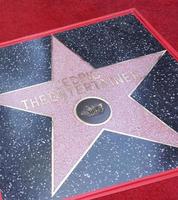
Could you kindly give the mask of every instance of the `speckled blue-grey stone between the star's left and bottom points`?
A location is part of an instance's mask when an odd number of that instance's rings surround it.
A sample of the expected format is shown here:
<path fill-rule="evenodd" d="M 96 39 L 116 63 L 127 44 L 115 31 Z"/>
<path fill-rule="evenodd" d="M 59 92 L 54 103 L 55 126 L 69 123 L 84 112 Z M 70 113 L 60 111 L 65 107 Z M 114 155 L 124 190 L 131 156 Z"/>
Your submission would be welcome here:
<path fill-rule="evenodd" d="M 4 200 L 48 200 L 51 118 L 0 107 L 0 189 Z"/>

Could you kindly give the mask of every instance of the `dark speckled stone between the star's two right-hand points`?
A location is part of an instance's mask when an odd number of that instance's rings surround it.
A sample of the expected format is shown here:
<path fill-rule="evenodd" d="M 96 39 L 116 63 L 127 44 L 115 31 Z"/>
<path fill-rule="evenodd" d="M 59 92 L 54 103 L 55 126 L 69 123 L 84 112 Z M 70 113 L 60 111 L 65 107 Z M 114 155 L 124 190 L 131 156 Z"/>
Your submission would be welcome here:
<path fill-rule="evenodd" d="M 178 132 L 178 62 L 166 53 L 132 97 Z"/>

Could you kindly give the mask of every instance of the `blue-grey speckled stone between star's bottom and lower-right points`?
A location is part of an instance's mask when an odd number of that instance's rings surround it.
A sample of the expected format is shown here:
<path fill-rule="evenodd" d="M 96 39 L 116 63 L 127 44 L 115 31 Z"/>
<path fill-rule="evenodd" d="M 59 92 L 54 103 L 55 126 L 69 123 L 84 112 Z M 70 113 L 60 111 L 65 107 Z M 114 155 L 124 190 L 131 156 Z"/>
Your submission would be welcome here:
<path fill-rule="evenodd" d="M 178 167 L 178 148 L 104 131 L 55 200 Z"/>

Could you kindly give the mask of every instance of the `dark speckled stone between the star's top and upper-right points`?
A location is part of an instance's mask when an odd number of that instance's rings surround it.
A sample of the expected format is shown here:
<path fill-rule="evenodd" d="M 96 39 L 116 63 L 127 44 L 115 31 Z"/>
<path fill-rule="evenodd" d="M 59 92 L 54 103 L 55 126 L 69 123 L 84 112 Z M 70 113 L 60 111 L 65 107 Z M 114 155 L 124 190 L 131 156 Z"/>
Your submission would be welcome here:
<path fill-rule="evenodd" d="M 163 50 L 133 15 L 55 35 L 94 68 Z"/>

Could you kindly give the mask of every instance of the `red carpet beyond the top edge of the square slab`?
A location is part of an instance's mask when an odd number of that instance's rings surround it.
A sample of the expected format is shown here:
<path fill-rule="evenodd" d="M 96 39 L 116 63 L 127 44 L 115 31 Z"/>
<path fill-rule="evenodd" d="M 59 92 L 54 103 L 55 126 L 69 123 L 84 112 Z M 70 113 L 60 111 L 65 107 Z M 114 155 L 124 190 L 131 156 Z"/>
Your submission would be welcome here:
<path fill-rule="evenodd" d="M 176 0 L 2 0 L 0 42 L 133 7 L 178 51 Z"/>

